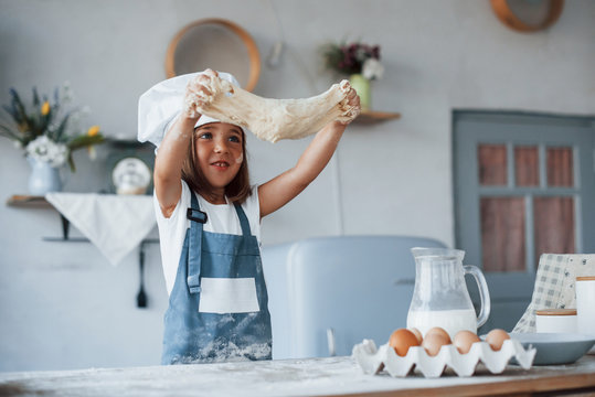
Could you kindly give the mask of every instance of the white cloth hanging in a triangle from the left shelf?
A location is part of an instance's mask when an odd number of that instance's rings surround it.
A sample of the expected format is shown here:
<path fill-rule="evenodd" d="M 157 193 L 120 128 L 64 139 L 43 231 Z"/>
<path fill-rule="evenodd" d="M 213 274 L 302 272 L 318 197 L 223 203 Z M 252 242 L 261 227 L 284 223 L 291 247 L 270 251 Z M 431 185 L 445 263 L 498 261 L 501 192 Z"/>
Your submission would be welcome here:
<path fill-rule="evenodd" d="M 152 197 L 47 193 L 45 198 L 117 266 L 156 225 Z"/>

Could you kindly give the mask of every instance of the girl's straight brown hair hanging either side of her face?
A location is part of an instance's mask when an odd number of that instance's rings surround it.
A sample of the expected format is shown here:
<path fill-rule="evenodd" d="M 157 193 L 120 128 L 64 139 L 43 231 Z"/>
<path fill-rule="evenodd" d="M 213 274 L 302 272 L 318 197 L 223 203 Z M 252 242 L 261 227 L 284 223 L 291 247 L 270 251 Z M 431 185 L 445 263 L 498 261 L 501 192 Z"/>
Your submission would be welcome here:
<path fill-rule="evenodd" d="M 194 129 L 194 132 L 196 129 Z M 203 197 L 214 198 L 211 184 L 202 173 L 196 158 L 195 140 L 192 133 L 191 143 L 188 146 L 188 152 L 182 164 L 182 179 L 188 183 L 190 190 L 199 193 Z M 227 200 L 234 204 L 242 204 L 252 194 L 249 186 L 248 157 L 246 155 L 246 135 L 242 129 L 242 154 L 244 160 L 235 178 L 225 186 Z"/>

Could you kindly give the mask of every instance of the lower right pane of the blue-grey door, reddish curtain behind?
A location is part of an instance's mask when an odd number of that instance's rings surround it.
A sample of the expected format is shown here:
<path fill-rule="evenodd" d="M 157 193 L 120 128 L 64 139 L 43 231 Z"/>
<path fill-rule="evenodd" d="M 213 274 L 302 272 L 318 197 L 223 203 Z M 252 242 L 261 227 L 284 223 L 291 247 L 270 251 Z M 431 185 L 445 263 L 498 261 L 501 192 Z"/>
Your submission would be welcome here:
<path fill-rule="evenodd" d="M 535 197 L 535 258 L 574 253 L 574 198 Z"/>

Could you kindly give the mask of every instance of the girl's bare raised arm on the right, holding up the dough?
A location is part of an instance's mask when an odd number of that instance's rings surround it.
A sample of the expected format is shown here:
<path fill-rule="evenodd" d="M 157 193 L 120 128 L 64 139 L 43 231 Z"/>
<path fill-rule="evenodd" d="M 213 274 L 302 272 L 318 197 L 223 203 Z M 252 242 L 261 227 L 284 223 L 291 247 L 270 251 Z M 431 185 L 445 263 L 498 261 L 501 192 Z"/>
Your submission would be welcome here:
<path fill-rule="evenodd" d="M 349 105 L 360 105 L 352 88 L 348 94 Z M 274 213 L 304 191 L 330 161 L 348 124 L 332 121 L 322 128 L 290 170 L 258 186 L 261 218 Z"/>

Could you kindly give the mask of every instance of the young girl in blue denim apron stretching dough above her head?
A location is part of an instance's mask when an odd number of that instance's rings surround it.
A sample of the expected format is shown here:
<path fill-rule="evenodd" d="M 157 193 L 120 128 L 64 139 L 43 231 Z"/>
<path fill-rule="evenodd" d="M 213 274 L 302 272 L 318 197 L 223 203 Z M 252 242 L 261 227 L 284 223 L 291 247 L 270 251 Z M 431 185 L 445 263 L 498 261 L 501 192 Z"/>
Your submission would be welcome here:
<path fill-rule="evenodd" d="M 237 85 L 229 74 L 219 76 Z M 347 124 L 330 122 L 293 169 L 251 186 L 246 131 L 184 105 L 201 105 L 201 93 L 209 94 L 204 78 L 193 76 L 179 93 L 180 114 L 167 127 L 155 162 L 156 214 L 170 294 L 162 364 L 270 360 L 261 219 L 318 176 Z M 348 98 L 359 108 L 353 89 Z"/>

